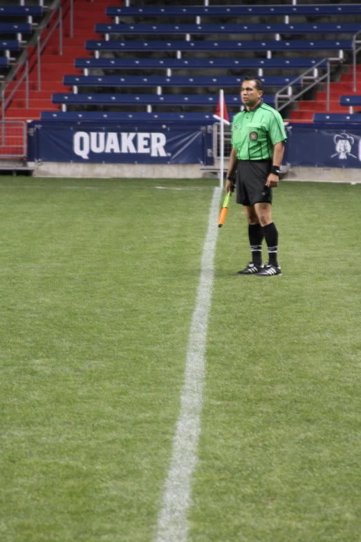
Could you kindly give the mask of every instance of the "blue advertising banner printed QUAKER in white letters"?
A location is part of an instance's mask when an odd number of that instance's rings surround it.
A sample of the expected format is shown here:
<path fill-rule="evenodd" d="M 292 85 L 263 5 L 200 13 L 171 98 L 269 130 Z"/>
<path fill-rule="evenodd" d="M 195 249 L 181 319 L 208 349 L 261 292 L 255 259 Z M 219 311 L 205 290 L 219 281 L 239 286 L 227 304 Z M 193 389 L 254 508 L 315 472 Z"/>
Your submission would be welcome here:
<path fill-rule="evenodd" d="M 103 123 L 29 125 L 29 161 L 205 163 L 205 128 Z"/>

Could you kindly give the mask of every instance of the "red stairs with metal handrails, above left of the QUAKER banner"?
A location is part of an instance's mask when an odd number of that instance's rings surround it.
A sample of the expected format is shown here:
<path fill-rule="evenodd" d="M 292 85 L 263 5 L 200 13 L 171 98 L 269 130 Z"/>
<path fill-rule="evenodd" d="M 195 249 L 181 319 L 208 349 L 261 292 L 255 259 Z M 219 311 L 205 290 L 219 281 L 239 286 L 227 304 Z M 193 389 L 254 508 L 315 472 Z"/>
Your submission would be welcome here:
<path fill-rule="evenodd" d="M 80 75 L 81 70 L 75 69 L 76 57 L 91 57 L 91 52 L 84 50 L 86 39 L 98 39 L 95 34 L 95 23 L 107 23 L 109 18 L 105 15 L 105 9 L 109 6 L 109 0 L 77 0 L 73 8 L 73 37 L 70 37 L 70 11 L 68 3 L 64 6 L 66 13 L 63 19 L 63 54 L 59 55 L 59 29 L 55 29 L 50 37 L 46 48 L 41 54 L 41 90 L 38 89 L 37 75 L 37 48 L 28 47 L 29 62 L 29 102 L 26 107 L 26 82 L 20 84 L 12 101 L 6 110 L 6 120 L 39 120 L 41 111 L 58 111 L 59 106 L 51 102 L 55 92 L 71 90 L 64 87 L 63 77 L 67 75 Z M 44 41 L 50 28 L 44 30 L 41 42 Z M 21 77 L 22 72 L 17 76 Z M 12 91 L 16 81 L 8 86 L 8 92 Z"/>

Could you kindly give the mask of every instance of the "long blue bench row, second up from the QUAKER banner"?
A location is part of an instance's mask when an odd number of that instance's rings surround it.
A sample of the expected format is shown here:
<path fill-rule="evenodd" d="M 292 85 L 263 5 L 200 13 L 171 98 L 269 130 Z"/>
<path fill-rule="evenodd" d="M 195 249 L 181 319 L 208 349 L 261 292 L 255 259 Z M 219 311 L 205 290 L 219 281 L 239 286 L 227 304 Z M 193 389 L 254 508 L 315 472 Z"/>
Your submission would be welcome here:
<path fill-rule="evenodd" d="M 67 105 L 189 105 L 189 106 L 216 106 L 219 100 L 216 96 L 208 94 L 71 94 L 55 93 L 54 104 Z M 227 106 L 241 106 L 239 95 L 226 95 Z M 263 102 L 274 105 L 275 96 L 264 95 Z"/>

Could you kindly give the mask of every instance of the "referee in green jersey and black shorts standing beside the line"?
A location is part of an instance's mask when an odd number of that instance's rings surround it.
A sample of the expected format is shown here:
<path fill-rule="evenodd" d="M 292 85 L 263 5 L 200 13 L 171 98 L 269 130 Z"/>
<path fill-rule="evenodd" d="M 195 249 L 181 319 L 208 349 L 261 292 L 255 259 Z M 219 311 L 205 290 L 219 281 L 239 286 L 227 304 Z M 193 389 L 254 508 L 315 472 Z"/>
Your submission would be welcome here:
<path fill-rule="evenodd" d="M 241 86 L 244 111 L 234 116 L 232 152 L 226 192 L 237 186 L 237 204 L 248 220 L 252 261 L 238 275 L 281 275 L 277 262 L 278 232 L 272 221 L 272 188 L 276 188 L 287 139 L 278 111 L 262 102 L 263 82 L 246 76 Z M 268 263 L 262 264 L 262 241 L 268 247 Z"/>

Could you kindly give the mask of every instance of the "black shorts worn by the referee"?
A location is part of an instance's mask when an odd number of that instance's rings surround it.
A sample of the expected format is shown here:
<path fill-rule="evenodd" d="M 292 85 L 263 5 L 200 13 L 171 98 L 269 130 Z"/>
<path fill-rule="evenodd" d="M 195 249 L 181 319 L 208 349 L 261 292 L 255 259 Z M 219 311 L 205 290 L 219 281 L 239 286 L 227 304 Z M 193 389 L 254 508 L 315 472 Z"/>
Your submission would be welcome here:
<path fill-rule="evenodd" d="M 272 188 L 266 186 L 270 160 L 239 160 L 237 164 L 237 204 L 272 204 Z"/>

